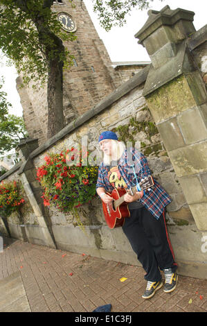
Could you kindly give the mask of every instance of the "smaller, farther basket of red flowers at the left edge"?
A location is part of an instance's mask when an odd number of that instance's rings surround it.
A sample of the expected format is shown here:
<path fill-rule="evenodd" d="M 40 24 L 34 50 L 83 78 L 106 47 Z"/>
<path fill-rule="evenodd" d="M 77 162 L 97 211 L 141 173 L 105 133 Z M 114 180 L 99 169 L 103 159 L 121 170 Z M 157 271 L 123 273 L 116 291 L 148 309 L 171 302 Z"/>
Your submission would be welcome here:
<path fill-rule="evenodd" d="M 0 214 L 8 217 L 12 212 L 19 212 L 25 200 L 21 194 L 20 182 L 7 182 L 0 185 Z"/>

